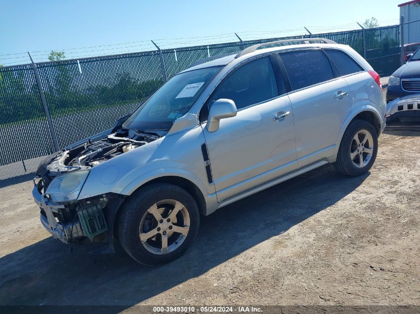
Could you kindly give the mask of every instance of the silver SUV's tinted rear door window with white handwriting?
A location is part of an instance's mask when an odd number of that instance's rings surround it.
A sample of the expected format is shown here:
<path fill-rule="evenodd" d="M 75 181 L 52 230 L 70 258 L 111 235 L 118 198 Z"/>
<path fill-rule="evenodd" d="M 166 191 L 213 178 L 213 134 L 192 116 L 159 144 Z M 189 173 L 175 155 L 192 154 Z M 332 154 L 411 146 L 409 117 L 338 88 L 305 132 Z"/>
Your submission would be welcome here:
<path fill-rule="evenodd" d="M 330 61 L 321 50 L 280 54 L 292 90 L 315 85 L 334 78 Z"/>

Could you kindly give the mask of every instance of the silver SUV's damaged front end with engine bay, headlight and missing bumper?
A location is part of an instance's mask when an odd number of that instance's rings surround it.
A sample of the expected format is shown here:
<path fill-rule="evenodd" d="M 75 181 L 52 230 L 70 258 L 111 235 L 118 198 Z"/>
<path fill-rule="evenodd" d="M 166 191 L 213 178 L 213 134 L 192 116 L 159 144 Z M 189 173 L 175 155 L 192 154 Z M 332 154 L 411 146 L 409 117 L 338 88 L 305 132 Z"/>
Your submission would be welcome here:
<path fill-rule="evenodd" d="M 80 191 L 91 168 L 161 136 L 120 129 L 47 157 L 36 172 L 32 190 L 44 228 L 63 243 L 102 243 L 104 247 L 96 252 L 113 252 L 114 219 L 124 197 L 107 193 L 79 200 Z"/>

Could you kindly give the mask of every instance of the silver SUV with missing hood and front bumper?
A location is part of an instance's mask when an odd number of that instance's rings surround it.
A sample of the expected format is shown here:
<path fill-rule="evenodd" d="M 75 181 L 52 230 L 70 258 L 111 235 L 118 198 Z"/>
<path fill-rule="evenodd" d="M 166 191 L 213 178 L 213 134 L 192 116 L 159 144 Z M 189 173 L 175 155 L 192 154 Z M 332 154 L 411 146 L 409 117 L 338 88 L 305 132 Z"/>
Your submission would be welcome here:
<path fill-rule="evenodd" d="M 366 173 L 384 117 L 379 75 L 350 47 L 255 45 L 193 64 L 113 129 L 49 156 L 33 196 L 54 238 L 102 253 L 118 240 L 165 263 L 200 215 L 327 163 Z"/>

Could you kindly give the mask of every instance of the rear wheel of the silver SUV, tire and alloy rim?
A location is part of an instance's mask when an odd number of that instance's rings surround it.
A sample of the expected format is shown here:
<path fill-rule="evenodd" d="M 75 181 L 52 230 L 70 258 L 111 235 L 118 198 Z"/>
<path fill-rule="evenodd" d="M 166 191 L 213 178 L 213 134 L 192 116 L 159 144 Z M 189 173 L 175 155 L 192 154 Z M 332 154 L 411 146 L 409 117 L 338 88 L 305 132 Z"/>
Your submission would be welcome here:
<path fill-rule="evenodd" d="M 377 153 L 378 134 L 375 128 L 365 120 L 354 120 L 347 126 L 341 139 L 336 170 L 346 176 L 361 176 L 372 167 Z"/>

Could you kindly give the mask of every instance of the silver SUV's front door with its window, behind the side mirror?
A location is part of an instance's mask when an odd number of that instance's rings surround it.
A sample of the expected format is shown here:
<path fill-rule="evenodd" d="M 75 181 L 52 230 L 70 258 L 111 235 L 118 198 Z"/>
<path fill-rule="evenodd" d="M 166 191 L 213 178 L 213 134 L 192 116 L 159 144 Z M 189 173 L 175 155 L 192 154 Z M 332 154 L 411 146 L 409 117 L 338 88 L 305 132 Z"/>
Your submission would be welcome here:
<path fill-rule="evenodd" d="M 215 132 L 202 125 L 219 202 L 290 172 L 296 164 L 292 107 L 270 58 L 236 69 L 208 106 L 220 98 L 232 99 L 238 114 L 221 120 Z"/>

